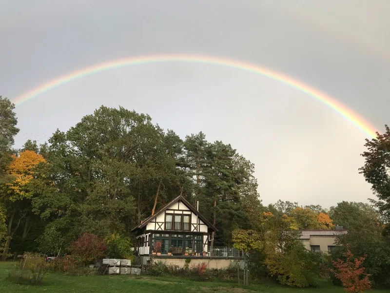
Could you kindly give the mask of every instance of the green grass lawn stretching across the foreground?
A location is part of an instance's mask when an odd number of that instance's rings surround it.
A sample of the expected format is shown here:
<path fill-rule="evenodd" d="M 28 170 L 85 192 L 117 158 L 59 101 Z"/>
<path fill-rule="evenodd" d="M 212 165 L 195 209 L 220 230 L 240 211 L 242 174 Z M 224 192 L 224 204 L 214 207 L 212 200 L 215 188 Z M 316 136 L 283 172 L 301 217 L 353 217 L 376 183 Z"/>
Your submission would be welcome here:
<path fill-rule="evenodd" d="M 241 286 L 234 283 L 222 282 L 195 282 L 182 278 L 151 277 L 151 276 L 99 276 L 91 275 L 86 277 L 67 276 L 59 273 L 49 273 L 42 286 L 24 286 L 9 282 L 6 277 L 12 270 L 14 263 L 0 262 L 0 293 L 8 292 L 163 292 L 163 293 L 341 293 L 342 288 L 322 282 L 318 288 L 289 288 L 276 284 L 262 284 Z M 385 293 L 390 290 L 372 290 L 370 293 Z"/>

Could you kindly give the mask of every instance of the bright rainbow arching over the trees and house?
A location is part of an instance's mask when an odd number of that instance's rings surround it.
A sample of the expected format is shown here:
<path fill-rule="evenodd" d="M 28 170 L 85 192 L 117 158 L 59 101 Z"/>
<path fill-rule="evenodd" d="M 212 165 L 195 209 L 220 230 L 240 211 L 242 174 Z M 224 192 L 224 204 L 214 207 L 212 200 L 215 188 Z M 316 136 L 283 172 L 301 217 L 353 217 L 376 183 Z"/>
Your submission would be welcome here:
<path fill-rule="evenodd" d="M 362 130 L 365 134 L 369 135 L 370 138 L 376 137 L 375 128 L 371 126 L 367 121 L 359 117 L 359 115 L 357 115 L 355 112 L 353 112 L 345 105 L 342 105 L 341 103 L 337 102 L 335 99 L 331 98 L 327 94 L 322 93 L 321 91 L 307 84 L 304 84 L 298 80 L 294 80 L 285 74 L 273 71 L 265 67 L 257 66 L 250 63 L 244 63 L 241 61 L 235 61 L 235 60 L 219 58 L 219 57 L 210 57 L 210 56 L 186 55 L 186 54 L 149 55 L 149 56 L 130 57 L 130 58 L 109 61 L 105 63 L 100 63 L 97 65 L 85 67 L 77 71 L 71 72 L 69 74 L 60 76 L 48 83 L 41 84 L 36 88 L 22 94 L 13 102 L 15 103 L 15 105 L 20 105 L 62 84 L 66 84 L 78 78 L 82 78 L 105 70 L 120 68 L 129 65 L 139 65 L 139 64 L 147 64 L 147 63 L 167 63 L 167 62 L 186 62 L 186 63 L 221 65 L 221 66 L 252 72 L 279 81 L 283 84 L 288 84 L 291 87 L 296 88 L 308 94 L 309 96 L 317 99 L 323 104 L 329 106 L 331 109 L 339 113 L 342 117 L 350 121 L 354 126 Z"/>

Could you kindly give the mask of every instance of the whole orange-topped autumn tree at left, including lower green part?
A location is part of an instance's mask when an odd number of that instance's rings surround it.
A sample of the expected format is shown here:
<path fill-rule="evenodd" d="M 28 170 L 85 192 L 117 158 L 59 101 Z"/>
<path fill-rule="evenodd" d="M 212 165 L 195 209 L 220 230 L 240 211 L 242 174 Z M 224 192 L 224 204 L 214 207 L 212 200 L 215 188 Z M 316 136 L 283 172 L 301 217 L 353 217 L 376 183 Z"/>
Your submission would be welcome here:
<path fill-rule="evenodd" d="M 46 163 L 41 155 L 26 150 L 21 152 L 19 157 L 13 156 L 13 161 L 7 168 L 11 181 L 3 185 L 1 190 L 1 201 L 7 210 L 7 233 L 2 260 L 7 256 L 11 239 L 21 220 L 31 210 L 31 199 L 34 196 L 31 183 L 33 179 L 38 178 L 36 170 L 41 163 Z M 47 180 L 43 180 L 47 183 Z"/>

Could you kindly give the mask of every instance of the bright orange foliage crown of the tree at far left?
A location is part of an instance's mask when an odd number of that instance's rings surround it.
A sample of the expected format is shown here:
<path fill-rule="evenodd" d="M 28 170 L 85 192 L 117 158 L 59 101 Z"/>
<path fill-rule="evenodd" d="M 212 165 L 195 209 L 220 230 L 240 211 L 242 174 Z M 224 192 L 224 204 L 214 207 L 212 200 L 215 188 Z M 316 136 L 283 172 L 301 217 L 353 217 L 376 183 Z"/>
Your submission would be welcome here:
<path fill-rule="evenodd" d="M 9 165 L 7 172 L 14 180 L 7 184 L 10 191 L 16 195 L 28 197 L 28 192 L 24 187 L 34 178 L 35 170 L 39 163 L 46 163 L 46 160 L 32 150 L 25 150 L 19 157 L 13 156 L 13 161 Z"/>

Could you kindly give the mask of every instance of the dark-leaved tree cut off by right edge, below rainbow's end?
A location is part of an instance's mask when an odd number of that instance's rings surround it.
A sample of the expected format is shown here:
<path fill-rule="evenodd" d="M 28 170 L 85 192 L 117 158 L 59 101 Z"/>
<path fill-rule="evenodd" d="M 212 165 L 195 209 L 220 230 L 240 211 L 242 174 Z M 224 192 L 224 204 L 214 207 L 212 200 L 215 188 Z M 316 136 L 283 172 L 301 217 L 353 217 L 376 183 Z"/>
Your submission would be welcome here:
<path fill-rule="evenodd" d="M 390 218 L 390 127 L 385 125 L 384 134 L 376 133 L 376 139 L 366 139 L 367 151 L 361 154 L 365 159 L 359 168 L 378 201 L 371 200 L 386 217 Z"/>

